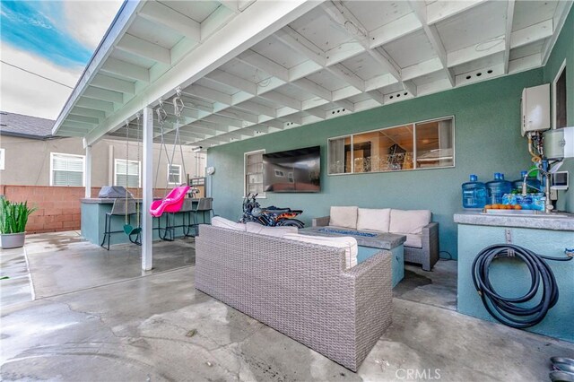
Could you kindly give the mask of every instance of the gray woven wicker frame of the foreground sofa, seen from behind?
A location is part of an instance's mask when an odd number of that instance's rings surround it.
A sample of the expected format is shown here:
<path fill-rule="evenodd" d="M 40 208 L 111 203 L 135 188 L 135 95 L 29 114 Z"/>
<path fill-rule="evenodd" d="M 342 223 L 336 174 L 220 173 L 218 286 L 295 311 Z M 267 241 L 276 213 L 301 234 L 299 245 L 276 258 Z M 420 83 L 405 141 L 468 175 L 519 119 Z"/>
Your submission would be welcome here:
<path fill-rule="evenodd" d="M 391 323 L 391 256 L 201 225 L 196 289 L 356 371 Z"/>

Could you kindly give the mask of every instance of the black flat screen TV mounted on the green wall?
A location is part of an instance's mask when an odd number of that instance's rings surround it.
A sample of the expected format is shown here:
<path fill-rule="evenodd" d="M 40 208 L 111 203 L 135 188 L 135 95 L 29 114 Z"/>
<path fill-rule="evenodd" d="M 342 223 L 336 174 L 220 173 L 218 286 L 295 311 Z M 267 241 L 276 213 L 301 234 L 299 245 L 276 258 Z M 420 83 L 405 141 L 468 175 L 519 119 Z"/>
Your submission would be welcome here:
<path fill-rule="evenodd" d="M 321 191 L 321 147 L 263 154 L 265 192 Z"/>

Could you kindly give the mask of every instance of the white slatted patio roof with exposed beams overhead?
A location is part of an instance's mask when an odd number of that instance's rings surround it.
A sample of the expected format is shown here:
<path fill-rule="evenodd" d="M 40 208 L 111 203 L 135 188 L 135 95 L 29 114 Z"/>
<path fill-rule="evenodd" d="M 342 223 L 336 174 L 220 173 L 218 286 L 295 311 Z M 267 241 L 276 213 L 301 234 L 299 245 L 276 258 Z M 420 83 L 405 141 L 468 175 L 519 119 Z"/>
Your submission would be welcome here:
<path fill-rule="evenodd" d="M 447 91 L 544 65 L 571 5 L 126 1 L 53 134 L 124 138 L 178 87 L 180 135 L 204 148 Z"/>

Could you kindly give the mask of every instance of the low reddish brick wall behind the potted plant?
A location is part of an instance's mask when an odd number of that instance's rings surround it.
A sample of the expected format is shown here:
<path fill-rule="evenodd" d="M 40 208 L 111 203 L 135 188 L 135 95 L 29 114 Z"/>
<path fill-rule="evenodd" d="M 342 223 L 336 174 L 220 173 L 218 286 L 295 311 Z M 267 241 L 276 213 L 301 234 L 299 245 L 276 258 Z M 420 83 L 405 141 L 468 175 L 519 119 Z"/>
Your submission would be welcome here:
<path fill-rule="evenodd" d="M 142 190 L 130 191 L 135 197 L 142 197 Z M 100 187 L 92 187 L 91 197 L 97 197 L 99 192 Z M 28 233 L 80 230 L 80 199 L 83 199 L 84 194 L 84 187 L 0 186 L 0 195 L 4 195 L 7 200 L 28 201 L 28 206 L 38 207 L 28 219 Z M 162 197 L 165 190 L 155 189 L 153 194 Z"/>

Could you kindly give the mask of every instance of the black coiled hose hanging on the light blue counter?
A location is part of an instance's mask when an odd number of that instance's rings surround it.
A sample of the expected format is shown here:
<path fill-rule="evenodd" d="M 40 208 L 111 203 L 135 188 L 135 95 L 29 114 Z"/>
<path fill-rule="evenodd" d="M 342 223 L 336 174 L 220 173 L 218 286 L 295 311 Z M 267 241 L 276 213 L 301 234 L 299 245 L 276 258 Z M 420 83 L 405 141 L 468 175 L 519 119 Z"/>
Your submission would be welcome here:
<path fill-rule="evenodd" d="M 522 297 L 515 299 L 500 296 L 489 280 L 491 263 L 499 257 L 516 257 L 525 262 L 531 276 L 530 289 Z M 496 244 L 485 247 L 473 262 L 474 288 L 483 300 L 484 308 L 492 317 L 506 326 L 525 328 L 540 323 L 548 310 L 558 301 L 558 285 L 552 269 L 546 260 L 569 261 L 572 257 L 551 257 L 538 255 L 535 252 L 511 244 Z M 532 300 L 542 283 L 542 296 L 540 302 L 531 308 L 521 307 L 517 304 Z M 512 315 L 512 316 L 510 316 Z"/>

